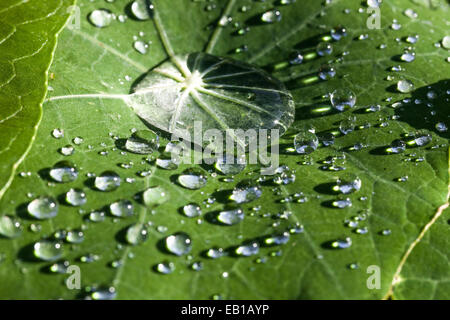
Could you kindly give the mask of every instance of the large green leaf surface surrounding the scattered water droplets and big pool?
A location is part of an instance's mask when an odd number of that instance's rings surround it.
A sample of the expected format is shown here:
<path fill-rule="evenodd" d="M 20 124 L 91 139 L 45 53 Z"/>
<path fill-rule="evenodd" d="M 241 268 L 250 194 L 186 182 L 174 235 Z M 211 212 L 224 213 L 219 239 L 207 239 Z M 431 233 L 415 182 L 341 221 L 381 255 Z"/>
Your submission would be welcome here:
<path fill-rule="evenodd" d="M 158 0 L 153 4 L 153 19 L 141 21 L 132 17 L 130 5 L 125 7 L 122 1 L 101 5 L 81 2 L 80 29 L 66 28 L 60 35 L 51 67 L 53 91 L 44 104 L 33 147 L 18 169 L 32 174 L 15 178 L 0 202 L 2 214 L 16 216 L 24 227 L 21 237 L 0 239 L 4 257 L 0 264 L 4 279 L 1 297 L 82 298 L 92 295 L 88 287 L 112 286 L 121 299 L 448 298 L 448 210 L 442 210 L 448 202 L 449 134 L 436 129 L 436 124 L 447 123 L 449 116 L 448 51 L 436 45 L 448 29 L 445 1 L 385 0 L 381 29 L 374 30 L 367 28 L 369 14 L 364 6 L 359 12 L 359 1 L 334 0 L 324 5 L 308 0 L 281 6 L 231 0 L 217 1 L 211 11 L 205 10 L 211 3 L 203 1 Z M 250 9 L 243 10 L 244 5 Z M 261 23 L 261 14 L 274 7 L 280 10 L 281 21 Z M 129 18 L 96 28 L 83 17 L 99 8 Z M 406 16 L 408 8 L 418 18 Z M 241 27 L 250 26 L 250 31 L 238 36 L 232 23 L 220 26 L 219 21 L 227 20 L 224 16 L 231 16 Z M 391 27 L 394 19 L 401 25 L 399 30 Z M 331 42 L 332 55 L 318 57 L 318 42 L 327 39 L 324 36 L 338 25 L 346 27 L 347 36 Z M 367 39 L 358 39 L 365 34 Z M 416 34 L 420 36 L 416 44 L 405 42 L 405 37 Z M 151 42 L 146 54 L 133 48 L 133 36 Z M 386 48 L 379 49 L 381 44 Z M 236 53 L 243 45 L 248 50 Z M 414 48 L 415 61 L 399 61 L 398 56 L 409 46 Z M 302 64 L 289 65 L 286 62 L 295 50 L 305 59 Z M 284 82 L 296 103 L 295 122 L 280 142 L 280 163 L 295 172 L 278 174 L 281 180 L 289 180 L 295 173 L 295 181 L 278 185 L 273 177 L 265 176 L 262 196 L 243 204 L 244 220 L 231 226 L 218 223 L 216 215 L 228 207 L 236 185 L 260 177 L 259 166 L 248 166 L 232 182 L 225 182 L 224 176 L 208 165 L 183 164 L 176 170 L 163 170 L 143 155 L 123 150 L 122 142 L 132 129 L 147 129 L 123 97 L 148 70 L 169 57 L 202 51 L 264 68 Z M 332 63 L 337 74 L 321 81 L 317 74 L 327 63 Z M 404 70 L 391 71 L 398 65 Z M 388 76 L 392 80 L 387 80 Z M 396 90 L 403 78 L 413 82 L 413 92 Z M 333 111 L 324 95 L 338 88 L 354 91 L 356 108 Z M 378 104 L 379 111 L 366 110 Z M 339 123 L 351 115 L 356 117 L 357 129 L 337 134 L 334 145 L 320 146 L 308 156 L 290 151 L 294 135 L 302 128 L 314 126 L 317 133 L 339 133 Z M 63 138 L 51 136 L 55 128 L 64 129 Z M 430 133 L 432 142 L 421 147 L 410 144 L 402 154 L 387 154 L 394 140 L 411 140 L 405 134 L 418 130 Z M 167 135 L 161 135 L 164 150 Z M 82 137 L 83 142 L 76 145 L 75 137 Z M 58 150 L 68 144 L 75 151 L 63 156 Z M 343 155 L 345 161 L 340 160 Z M 345 171 L 325 170 L 329 157 Z M 74 182 L 55 183 L 49 178 L 48 169 L 61 160 L 77 165 L 80 173 Z M 132 167 L 126 169 L 130 162 Z M 191 167 L 206 170 L 205 187 L 188 190 L 178 184 L 178 175 Z M 99 175 L 106 170 L 122 178 L 116 191 L 100 192 L 93 185 L 89 173 Z M 359 191 L 337 195 L 332 190 L 336 178 L 344 174 L 361 179 Z M 155 186 L 165 190 L 167 201 L 146 207 L 142 192 Z M 87 203 L 81 208 L 65 202 L 70 188 L 85 191 Z M 161 193 L 161 189 L 157 191 Z M 32 219 L 27 205 L 38 196 L 58 199 L 55 218 Z M 337 199 L 347 197 L 351 207 L 333 206 Z M 132 202 L 133 216 L 117 218 L 108 213 L 108 206 L 119 199 Z M 198 203 L 203 216 L 184 216 L 181 209 L 188 203 Z M 104 210 L 105 220 L 90 221 L 92 210 Z M 349 227 L 349 222 L 358 222 L 358 226 Z M 132 246 L 126 241 L 126 231 L 136 223 L 147 223 L 148 236 L 145 242 Z M 38 226 L 40 231 L 30 231 Z M 265 241 L 293 228 L 303 232 L 290 234 L 285 244 Z M 368 232 L 362 234 L 364 228 Z M 61 229 L 84 232 L 83 242 L 63 244 L 63 259 L 81 268 L 83 290 L 68 289 L 64 283 L 68 274 L 48 271 L 52 263 L 33 256 L 36 241 Z M 187 256 L 177 257 L 164 248 L 165 238 L 177 232 L 192 239 Z M 339 240 L 348 245 L 347 238 L 351 239 L 350 247 L 334 248 L 333 243 Z M 278 240 L 286 240 L 286 236 Z M 236 246 L 246 241 L 261 243 L 257 255 L 205 257 L 210 248 L 235 252 Z M 89 254 L 99 258 L 83 263 L 82 257 Z M 165 261 L 175 266 L 171 274 L 156 270 Z M 192 270 L 194 262 L 202 262 L 203 269 Z M 368 270 L 373 266 L 381 271 L 378 289 L 367 285 L 372 275 Z M 426 290 L 422 290 L 424 284 Z"/>

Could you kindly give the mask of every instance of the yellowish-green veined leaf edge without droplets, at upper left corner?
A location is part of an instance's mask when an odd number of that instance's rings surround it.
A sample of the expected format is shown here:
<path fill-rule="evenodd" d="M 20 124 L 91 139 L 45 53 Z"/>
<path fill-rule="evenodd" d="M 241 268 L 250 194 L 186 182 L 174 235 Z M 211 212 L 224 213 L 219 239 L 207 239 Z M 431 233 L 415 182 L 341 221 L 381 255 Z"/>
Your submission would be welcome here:
<path fill-rule="evenodd" d="M 47 71 L 72 1 L 0 4 L 0 198 L 28 153 L 41 120 Z"/>

